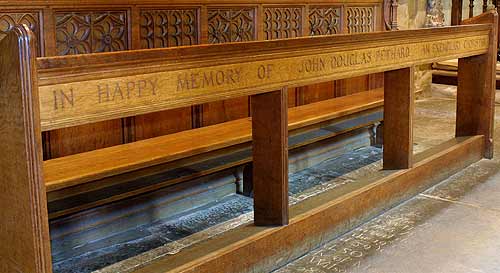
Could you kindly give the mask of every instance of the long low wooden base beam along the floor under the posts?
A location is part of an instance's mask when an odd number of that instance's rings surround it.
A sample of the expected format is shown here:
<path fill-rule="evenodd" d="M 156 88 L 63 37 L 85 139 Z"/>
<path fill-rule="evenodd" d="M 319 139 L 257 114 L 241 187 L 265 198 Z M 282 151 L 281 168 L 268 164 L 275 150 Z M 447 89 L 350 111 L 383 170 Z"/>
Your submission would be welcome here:
<path fill-rule="evenodd" d="M 483 149 L 483 136 L 452 139 L 416 155 L 412 169 L 382 171 L 383 178 L 367 178 L 356 183 L 359 188 L 329 191 L 293 206 L 288 226 L 245 225 L 134 272 L 272 271 L 480 160 Z"/>

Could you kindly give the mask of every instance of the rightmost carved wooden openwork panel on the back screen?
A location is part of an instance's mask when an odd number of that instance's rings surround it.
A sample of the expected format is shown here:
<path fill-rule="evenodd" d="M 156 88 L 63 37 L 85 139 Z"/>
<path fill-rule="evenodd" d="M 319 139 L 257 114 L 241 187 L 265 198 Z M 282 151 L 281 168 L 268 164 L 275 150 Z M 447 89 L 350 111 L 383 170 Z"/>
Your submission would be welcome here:
<path fill-rule="evenodd" d="M 348 33 L 372 32 L 374 30 L 375 30 L 374 7 L 347 8 Z"/>

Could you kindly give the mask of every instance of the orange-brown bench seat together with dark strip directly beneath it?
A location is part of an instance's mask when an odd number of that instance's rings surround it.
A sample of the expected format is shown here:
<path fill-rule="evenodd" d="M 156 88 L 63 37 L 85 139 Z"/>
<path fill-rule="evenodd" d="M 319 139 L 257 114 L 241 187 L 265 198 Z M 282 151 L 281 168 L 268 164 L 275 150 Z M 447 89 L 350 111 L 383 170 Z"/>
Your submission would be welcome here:
<path fill-rule="evenodd" d="M 296 149 L 357 128 L 371 126 L 382 121 L 380 114 L 382 108 L 383 89 L 290 108 L 288 110 L 290 136 L 304 135 L 309 131 L 317 132 L 321 128 L 334 123 L 338 124 L 345 119 L 354 119 L 355 122 L 351 122 L 353 125 L 348 128 L 340 126 L 339 130 L 329 131 L 328 134 L 306 137 L 299 143 L 290 145 L 289 148 Z M 360 121 L 357 122 L 357 120 Z M 155 175 L 168 171 L 175 172 L 183 168 L 192 169 L 193 167 L 190 166 L 196 162 L 216 160 L 220 157 L 227 157 L 228 154 L 249 150 L 252 136 L 251 124 L 251 118 L 238 119 L 136 143 L 44 161 L 49 217 L 57 218 L 250 163 L 252 158 L 247 155 L 248 152 L 244 152 L 245 156 L 235 155 L 234 160 L 224 164 L 193 172 L 179 171 L 179 175 L 175 178 L 160 178 L 154 183 L 148 183 L 148 178 Z M 207 141 L 199 142 L 198 139 Z M 140 179 L 144 182 L 138 183 Z M 131 181 L 135 184 L 133 189 L 128 186 L 121 193 L 108 190 L 109 194 L 106 197 L 100 196 L 94 199 L 92 196 L 92 192 L 96 190 L 118 188 Z M 81 195 L 85 201 L 78 205 L 76 201 L 69 202 L 71 205 L 65 204 L 65 199 L 71 200 L 76 195 Z"/>

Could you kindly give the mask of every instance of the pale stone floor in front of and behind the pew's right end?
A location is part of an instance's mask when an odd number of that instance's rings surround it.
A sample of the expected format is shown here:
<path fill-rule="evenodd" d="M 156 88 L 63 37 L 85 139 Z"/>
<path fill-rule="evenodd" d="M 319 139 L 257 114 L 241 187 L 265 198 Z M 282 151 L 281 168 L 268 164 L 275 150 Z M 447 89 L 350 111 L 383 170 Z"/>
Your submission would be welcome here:
<path fill-rule="evenodd" d="M 416 109 L 416 150 L 453 135 L 453 100 L 421 101 Z M 499 118 L 494 160 L 470 166 L 275 273 L 500 272 Z"/>

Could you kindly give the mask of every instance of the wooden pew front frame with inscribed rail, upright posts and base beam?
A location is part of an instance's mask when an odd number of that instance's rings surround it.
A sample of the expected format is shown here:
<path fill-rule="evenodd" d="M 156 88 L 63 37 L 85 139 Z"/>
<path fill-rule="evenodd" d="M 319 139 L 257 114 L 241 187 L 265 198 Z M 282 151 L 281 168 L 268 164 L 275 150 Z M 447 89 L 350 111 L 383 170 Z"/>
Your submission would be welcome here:
<path fill-rule="evenodd" d="M 372 206 L 393 204 L 403 193 L 441 177 L 444 169 L 449 174 L 481 158 L 491 158 L 497 14 L 490 13 L 479 22 L 484 24 L 38 59 L 29 29 L 15 28 L 0 42 L 0 112 L 4 117 L 0 126 L 0 174 L 4 179 L 0 207 L 8 208 L 0 214 L 0 269 L 51 272 L 42 131 L 252 96 L 254 214 L 260 227 L 242 227 L 239 233 L 236 230 L 227 235 L 230 237 L 212 242 L 210 252 L 197 249 L 188 256 L 164 257 L 137 272 L 174 268 L 240 272 L 277 252 L 315 241 L 314 236 L 324 238 L 339 221 L 358 217 Z M 413 67 L 450 58 L 461 59 L 457 138 L 431 154 L 414 157 Z M 290 122 L 298 120 L 291 113 L 288 116 L 286 88 L 379 72 L 384 72 L 386 85 L 383 165 L 393 170 L 391 175 L 340 199 L 314 199 L 319 202 L 316 207 L 299 205 L 290 214 L 288 129 Z M 312 118 L 314 115 L 301 122 L 328 120 L 332 114 Z M 196 132 L 186 134 L 185 138 L 197 137 Z M 234 139 L 242 141 L 238 136 Z M 215 141 L 210 145 L 222 144 Z M 198 146 L 202 151 L 210 147 Z M 150 156 L 149 160 L 156 163 L 190 155 L 188 146 L 167 148 L 162 153 L 176 154 Z M 154 154 L 156 146 L 150 149 L 140 152 Z M 109 152 L 105 157 L 115 160 Z M 120 164 L 116 169 L 113 164 L 103 166 L 78 179 L 104 177 L 126 171 L 127 166 L 134 169 L 149 163 L 143 158 L 133 164 L 125 159 Z M 85 171 L 74 168 L 76 175 L 68 176 L 79 177 L 78 172 Z M 237 262 L 241 257 L 246 257 L 245 263 Z"/>

